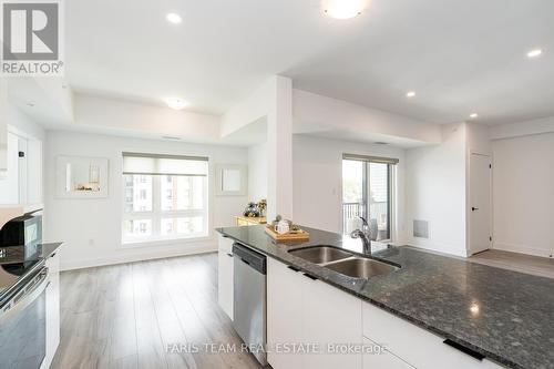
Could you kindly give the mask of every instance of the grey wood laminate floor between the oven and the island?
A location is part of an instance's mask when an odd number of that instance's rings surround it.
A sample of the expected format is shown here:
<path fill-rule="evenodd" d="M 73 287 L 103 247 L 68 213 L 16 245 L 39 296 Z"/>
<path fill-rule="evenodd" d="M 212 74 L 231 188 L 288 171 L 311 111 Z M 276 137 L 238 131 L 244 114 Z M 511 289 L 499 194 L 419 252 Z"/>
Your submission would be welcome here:
<path fill-rule="evenodd" d="M 61 319 L 51 368 L 261 368 L 240 350 L 204 349 L 242 344 L 217 305 L 216 254 L 62 273 Z"/>

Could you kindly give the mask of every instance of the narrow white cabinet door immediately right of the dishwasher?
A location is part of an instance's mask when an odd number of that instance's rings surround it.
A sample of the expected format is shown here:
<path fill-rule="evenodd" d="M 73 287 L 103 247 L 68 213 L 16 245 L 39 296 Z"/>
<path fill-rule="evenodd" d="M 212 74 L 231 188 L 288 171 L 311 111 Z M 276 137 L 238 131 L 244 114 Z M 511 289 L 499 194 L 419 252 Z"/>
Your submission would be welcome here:
<path fill-rule="evenodd" d="M 267 361 L 274 369 L 301 368 L 304 276 L 285 264 L 267 258 Z"/>

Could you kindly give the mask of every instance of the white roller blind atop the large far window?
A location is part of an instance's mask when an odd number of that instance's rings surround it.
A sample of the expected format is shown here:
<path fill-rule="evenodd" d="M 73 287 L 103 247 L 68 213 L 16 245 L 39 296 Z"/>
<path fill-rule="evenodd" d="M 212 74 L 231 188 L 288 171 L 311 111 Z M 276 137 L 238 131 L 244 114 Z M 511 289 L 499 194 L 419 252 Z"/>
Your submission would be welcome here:
<path fill-rule="evenodd" d="M 208 158 L 123 153 L 123 174 L 207 176 Z"/>

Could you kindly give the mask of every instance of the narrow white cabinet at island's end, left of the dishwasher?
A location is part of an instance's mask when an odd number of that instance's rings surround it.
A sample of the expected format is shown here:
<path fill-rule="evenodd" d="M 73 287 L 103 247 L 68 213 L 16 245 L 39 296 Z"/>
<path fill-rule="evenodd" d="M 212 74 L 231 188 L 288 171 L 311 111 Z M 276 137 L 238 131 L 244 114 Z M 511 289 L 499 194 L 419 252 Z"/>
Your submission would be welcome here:
<path fill-rule="evenodd" d="M 233 320 L 233 239 L 218 236 L 217 301 Z"/>

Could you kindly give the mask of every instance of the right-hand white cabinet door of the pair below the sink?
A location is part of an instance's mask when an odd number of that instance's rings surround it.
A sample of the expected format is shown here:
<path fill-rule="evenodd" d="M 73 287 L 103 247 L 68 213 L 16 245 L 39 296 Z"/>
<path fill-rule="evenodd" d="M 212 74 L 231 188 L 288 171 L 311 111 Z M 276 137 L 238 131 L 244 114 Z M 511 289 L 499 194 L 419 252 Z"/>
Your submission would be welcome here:
<path fill-rule="evenodd" d="M 305 369 L 361 369 L 361 300 L 302 276 L 302 337 L 324 353 L 304 356 Z M 357 347 L 358 352 L 348 351 Z M 346 350 L 346 351 L 342 351 Z"/>

